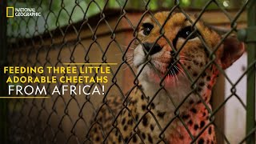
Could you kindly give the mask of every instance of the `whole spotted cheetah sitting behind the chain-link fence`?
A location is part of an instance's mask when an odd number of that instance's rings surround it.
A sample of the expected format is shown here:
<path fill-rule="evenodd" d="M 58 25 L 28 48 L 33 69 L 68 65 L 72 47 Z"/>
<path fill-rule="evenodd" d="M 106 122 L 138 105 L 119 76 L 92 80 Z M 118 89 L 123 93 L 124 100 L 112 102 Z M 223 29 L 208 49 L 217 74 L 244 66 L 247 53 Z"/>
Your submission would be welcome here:
<path fill-rule="evenodd" d="M 193 27 L 185 14 L 169 14 L 145 18 L 138 28 L 133 58 L 140 86 L 126 98 L 106 97 L 86 142 L 216 143 L 211 90 L 219 68 L 240 58 L 244 46 L 234 36 L 218 46 L 216 31 L 202 22 Z"/>

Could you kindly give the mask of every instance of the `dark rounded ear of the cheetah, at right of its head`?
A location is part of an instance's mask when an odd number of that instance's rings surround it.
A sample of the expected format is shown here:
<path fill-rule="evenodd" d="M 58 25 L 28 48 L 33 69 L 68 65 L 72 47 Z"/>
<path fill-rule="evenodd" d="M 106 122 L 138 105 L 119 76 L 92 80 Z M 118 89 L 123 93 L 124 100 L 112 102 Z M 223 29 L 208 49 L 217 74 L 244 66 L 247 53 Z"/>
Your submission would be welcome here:
<path fill-rule="evenodd" d="M 225 38 L 223 49 L 221 57 L 222 69 L 226 69 L 242 56 L 245 46 L 243 42 L 238 41 L 236 36 L 231 35 Z"/>

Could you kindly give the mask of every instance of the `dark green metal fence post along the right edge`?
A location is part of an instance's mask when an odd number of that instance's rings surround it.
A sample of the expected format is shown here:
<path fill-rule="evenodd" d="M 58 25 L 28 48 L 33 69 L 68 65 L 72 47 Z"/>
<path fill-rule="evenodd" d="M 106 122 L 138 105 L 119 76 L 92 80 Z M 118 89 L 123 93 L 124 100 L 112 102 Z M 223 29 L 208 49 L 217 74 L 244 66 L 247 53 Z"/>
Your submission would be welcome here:
<path fill-rule="evenodd" d="M 247 18 L 248 18 L 248 30 L 254 29 L 256 26 L 256 1 L 252 0 L 249 3 Z M 256 59 L 256 41 L 255 33 L 248 32 L 246 38 L 254 38 L 254 41 L 247 42 L 247 52 L 248 52 L 248 65 Z M 255 127 L 255 63 L 254 66 L 250 68 L 247 74 L 247 106 L 246 106 L 246 134 L 250 134 L 247 138 L 246 143 L 255 143 L 255 133 L 251 133 Z"/>

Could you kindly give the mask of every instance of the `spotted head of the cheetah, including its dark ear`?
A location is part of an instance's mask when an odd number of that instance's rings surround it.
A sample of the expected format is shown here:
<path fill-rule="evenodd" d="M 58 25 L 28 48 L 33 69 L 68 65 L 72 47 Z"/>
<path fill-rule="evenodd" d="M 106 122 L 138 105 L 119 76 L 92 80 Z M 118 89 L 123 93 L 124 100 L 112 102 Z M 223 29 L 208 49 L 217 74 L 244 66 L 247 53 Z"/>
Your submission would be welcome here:
<path fill-rule="evenodd" d="M 222 36 L 202 22 L 193 27 L 193 16 L 169 14 L 145 18 L 138 28 L 134 66 L 141 82 L 164 83 L 166 87 L 191 84 L 190 78 L 193 81 L 206 73 L 211 77 L 218 66 L 226 69 L 243 54 L 244 46 L 234 36 L 221 43 Z"/>

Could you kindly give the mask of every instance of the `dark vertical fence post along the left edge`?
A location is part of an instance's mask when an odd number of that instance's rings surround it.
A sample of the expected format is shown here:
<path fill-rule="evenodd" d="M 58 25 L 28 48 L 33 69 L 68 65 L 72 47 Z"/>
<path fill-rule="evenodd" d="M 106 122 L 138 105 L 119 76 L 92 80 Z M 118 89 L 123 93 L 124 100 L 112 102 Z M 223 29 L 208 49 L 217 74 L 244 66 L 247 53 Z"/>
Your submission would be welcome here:
<path fill-rule="evenodd" d="M 7 63 L 6 6 L 6 0 L 0 2 L 0 97 L 7 95 L 6 74 L 3 74 L 3 66 Z M 0 98 L 0 115 L 0 142 L 7 143 L 7 102 L 2 98 Z"/>

